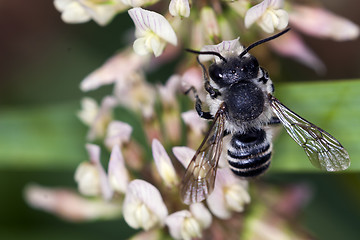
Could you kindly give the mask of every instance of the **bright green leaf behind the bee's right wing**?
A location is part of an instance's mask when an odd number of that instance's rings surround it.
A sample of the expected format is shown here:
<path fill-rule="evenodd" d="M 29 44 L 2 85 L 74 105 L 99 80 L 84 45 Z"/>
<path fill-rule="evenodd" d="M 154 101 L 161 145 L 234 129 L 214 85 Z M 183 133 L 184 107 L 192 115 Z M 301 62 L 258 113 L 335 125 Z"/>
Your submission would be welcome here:
<path fill-rule="evenodd" d="M 292 111 L 334 136 L 349 152 L 349 170 L 360 170 L 360 81 L 283 84 L 276 97 Z M 316 171 L 283 129 L 275 137 L 272 171 Z"/>

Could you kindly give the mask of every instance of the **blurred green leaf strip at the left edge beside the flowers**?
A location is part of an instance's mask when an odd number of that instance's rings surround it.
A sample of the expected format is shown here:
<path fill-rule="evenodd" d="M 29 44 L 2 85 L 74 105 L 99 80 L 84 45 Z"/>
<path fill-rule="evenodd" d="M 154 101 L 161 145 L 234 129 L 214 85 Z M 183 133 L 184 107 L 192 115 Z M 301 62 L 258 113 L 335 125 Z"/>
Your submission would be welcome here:
<path fill-rule="evenodd" d="M 78 103 L 2 108 L 0 167 L 75 169 L 87 158 L 79 108 Z"/>

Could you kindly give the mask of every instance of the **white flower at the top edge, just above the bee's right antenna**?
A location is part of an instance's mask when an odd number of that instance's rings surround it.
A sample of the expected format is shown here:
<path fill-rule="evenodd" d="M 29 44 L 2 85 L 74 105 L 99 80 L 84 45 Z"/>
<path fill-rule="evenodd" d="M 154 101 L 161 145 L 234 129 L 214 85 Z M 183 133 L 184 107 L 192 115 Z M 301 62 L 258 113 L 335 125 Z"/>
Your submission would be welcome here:
<path fill-rule="evenodd" d="M 283 0 L 264 0 L 250 8 L 245 15 L 245 27 L 249 28 L 254 22 L 267 33 L 273 33 L 275 29 L 283 30 L 288 25 L 288 13 L 280 9 Z"/>

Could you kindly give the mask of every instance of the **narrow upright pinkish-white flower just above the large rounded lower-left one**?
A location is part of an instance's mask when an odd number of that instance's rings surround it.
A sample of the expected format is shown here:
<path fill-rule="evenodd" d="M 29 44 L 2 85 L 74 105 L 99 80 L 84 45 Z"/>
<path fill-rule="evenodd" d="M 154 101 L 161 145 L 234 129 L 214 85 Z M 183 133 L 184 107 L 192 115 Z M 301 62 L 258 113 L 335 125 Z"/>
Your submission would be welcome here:
<path fill-rule="evenodd" d="M 125 167 L 124 157 L 121 154 L 118 145 L 115 145 L 111 151 L 108 166 L 108 177 L 111 187 L 119 193 L 125 193 L 129 183 L 129 172 Z"/>

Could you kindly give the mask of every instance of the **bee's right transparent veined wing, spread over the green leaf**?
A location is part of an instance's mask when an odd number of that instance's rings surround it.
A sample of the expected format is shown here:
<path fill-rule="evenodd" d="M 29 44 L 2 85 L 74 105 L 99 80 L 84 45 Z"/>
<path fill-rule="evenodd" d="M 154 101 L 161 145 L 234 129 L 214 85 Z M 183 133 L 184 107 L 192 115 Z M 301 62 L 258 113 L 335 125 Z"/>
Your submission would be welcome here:
<path fill-rule="evenodd" d="M 300 117 L 273 96 L 270 104 L 287 133 L 304 148 L 315 167 L 339 171 L 350 166 L 348 152 L 333 136 Z"/>

